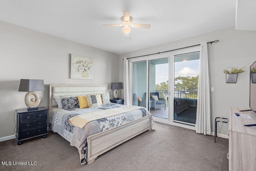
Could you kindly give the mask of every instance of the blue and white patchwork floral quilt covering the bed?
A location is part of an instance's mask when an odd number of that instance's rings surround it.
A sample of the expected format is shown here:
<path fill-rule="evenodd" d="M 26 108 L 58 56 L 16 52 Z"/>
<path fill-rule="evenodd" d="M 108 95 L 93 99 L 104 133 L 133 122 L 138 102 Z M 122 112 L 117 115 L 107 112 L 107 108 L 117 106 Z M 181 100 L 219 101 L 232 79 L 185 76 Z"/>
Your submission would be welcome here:
<path fill-rule="evenodd" d="M 108 103 L 99 107 L 91 108 L 74 108 L 74 109 L 52 109 L 49 114 L 49 129 L 59 133 L 67 141 L 70 142 L 70 145 L 75 146 L 78 149 L 80 154 L 81 164 L 86 163 L 87 159 L 87 137 L 113 127 L 117 127 L 129 121 L 133 121 L 144 117 L 146 115 L 151 115 L 149 111 L 142 107 L 134 111 L 127 113 L 122 113 L 119 115 L 114 115 L 111 117 L 106 117 L 103 119 L 98 119 L 95 121 L 90 121 L 82 129 L 80 127 L 75 127 L 68 122 L 68 119 L 95 111 L 101 111 L 106 109 L 118 108 L 123 105 L 116 103 Z"/>

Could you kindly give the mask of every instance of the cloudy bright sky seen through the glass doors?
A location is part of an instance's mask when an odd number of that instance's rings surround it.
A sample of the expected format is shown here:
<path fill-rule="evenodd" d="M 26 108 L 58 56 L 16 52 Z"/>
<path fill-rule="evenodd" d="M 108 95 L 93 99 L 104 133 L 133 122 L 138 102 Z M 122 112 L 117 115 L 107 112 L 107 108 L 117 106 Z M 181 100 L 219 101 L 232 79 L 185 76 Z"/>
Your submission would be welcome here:
<path fill-rule="evenodd" d="M 191 76 L 196 77 L 199 73 L 199 60 L 174 63 L 174 77 Z M 168 80 L 168 64 L 156 65 L 156 84 Z"/>

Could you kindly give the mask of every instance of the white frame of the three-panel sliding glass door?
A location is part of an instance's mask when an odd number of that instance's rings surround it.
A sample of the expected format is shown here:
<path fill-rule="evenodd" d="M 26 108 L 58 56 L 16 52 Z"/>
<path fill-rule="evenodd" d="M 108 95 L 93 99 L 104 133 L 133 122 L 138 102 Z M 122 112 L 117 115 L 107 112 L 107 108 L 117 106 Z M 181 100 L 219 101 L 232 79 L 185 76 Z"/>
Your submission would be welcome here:
<path fill-rule="evenodd" d="M 132 58 L 129 59 L 129 82 L 130 85 L 133 85 L 133 81 L 132 81 L 132 63 L 133 62 L 142 62 L 142 61 L 146 61 L 147 62 L 147 88 L 146 88 L 146 108 L 148 109 L 148 91 L 149 91 L 149 60 L 155 60 L 155 59 L 160 59 L 160 58 L 169 58 L 169 89 L 168 89 L 168 95 L 169 97 L 174 97 L 174 56 L 176 55 L 181 55 L 181 54 L 187 54 L 187 53 L 193 53 L 193 52 L 200 52 L 200 46 L 194 46 L 191 48 L 185 48 L 185 49 L 181 49 L 181 50 L 175 50 L 175 51 L 171 51 L 171 52 L 166 52 L 163 54 L 157 54 L 157 55 L 152 55 L 152 56 L 144 56 L 144 57 L 138 57 L 138 58 Z M 130 87 L 130 97 L 132 97 L 132 86 Z M 132 104 L 132 98 L 130 98 L 130 104 Z M 160 117 L 154 117 L 152 116 L 152 118 L 154 119 L 154 121 L 157 122 L 161 122 L 161 123 L 166 123 L 166 124 L 170 124 L 170 125 L 175 125 L 175 126 L 179 126 L 179 127 L 184 127 L 187 129 L 193 129 L 196 130 L 195 126 L 192 125 L 186 125 L 184 123 L 178 123 L 176 121 L 174 121 L 174 99 L 173 98 L 168 98 L 168 107 L 169 107 L 169 116 L 168 119 L 164 119 L 164 118 L 160 118 Z"/>

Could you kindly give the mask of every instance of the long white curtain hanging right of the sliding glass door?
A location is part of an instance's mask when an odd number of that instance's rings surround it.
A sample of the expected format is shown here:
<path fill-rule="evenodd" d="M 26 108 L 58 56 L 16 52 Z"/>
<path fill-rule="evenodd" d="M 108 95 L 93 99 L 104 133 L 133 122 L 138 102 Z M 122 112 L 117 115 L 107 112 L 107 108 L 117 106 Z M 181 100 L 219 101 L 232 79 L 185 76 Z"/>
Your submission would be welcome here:
<path fill-rule="evenodd" d="M 200 50 L 196 133 L 211 135 L 210 84 L 207 42 L 201 42 Z"/>

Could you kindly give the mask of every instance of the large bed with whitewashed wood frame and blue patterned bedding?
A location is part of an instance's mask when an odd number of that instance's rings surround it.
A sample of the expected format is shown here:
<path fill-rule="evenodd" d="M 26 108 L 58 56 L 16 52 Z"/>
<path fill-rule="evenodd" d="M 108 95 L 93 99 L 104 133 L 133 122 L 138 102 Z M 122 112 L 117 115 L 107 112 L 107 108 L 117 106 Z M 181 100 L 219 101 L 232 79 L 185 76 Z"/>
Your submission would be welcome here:
<path fill-rule="evenodd" d="M 78 149 L 81 164 L 92 163 L 102 153 L 152 129 L 152 117 L 146 108 L 110 103 L 106 90 L 107 85 L 50 84 L 49 129 Z M 84 96 L 92 97 L 88 100 L 91 106 L 80 108 L 77 103 L 81 101 L 76 97 Z M 93 97 L 97 103 L 102 99 L 102 104 L 92 105 Z M 107 117 L 88 119 L 95 115 Z"/>

